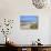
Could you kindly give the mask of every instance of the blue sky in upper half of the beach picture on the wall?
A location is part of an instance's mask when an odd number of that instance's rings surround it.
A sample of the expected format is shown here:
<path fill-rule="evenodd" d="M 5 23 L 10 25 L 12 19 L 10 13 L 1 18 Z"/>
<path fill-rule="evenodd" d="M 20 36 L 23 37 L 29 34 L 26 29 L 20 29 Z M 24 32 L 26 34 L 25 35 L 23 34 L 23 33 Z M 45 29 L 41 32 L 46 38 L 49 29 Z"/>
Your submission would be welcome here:
<path fill-rule="evenodd" d="M 38 17 L 37 16 L 21 16 L 20 21 L 27 21 L 27 22 L 37 22 Z"/>

